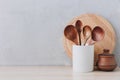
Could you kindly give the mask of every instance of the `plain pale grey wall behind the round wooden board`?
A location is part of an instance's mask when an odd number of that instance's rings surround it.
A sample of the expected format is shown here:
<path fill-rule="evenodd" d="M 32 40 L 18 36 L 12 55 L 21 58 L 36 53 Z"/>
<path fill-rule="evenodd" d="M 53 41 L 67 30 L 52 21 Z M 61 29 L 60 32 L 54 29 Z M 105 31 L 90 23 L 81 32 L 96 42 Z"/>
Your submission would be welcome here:
<path fill-rule="evenodd" d="M 120 0 L 0 0 L 0 65 L 70 65 L 62 35 L 83 13 L 104 16 L 117 33 L 119 60 Z"/>

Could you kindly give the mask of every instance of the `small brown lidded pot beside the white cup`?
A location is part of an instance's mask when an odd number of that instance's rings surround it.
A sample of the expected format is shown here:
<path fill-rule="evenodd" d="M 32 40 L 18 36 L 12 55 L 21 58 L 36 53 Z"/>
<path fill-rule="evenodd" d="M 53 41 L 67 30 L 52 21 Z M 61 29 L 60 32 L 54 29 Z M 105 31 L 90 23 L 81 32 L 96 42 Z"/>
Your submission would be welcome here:
<path fill-rule="evenodd" d="M 102 71 L 113 71 L 117 67 L 114 54 L 109 54 L 109 49 L 104 49 L 103 53 L 98 55 L 97 66 Z"/>

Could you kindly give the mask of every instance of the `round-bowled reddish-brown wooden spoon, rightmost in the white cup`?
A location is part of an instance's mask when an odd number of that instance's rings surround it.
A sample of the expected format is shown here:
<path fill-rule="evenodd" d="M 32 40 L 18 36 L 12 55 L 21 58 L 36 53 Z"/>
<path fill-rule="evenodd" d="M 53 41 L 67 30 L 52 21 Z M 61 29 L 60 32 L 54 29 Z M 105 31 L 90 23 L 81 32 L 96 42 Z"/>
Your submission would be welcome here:
<path fill-rule="evenodd" d="M 95 44 L 96 41 L 101 41 L 105 36 L 105 32 L 104 30 L 99 27 L 96 26 L 93 30 L 92 30 L 92 38 L 89 41 L 89 45 L 93 45 Z"/>

